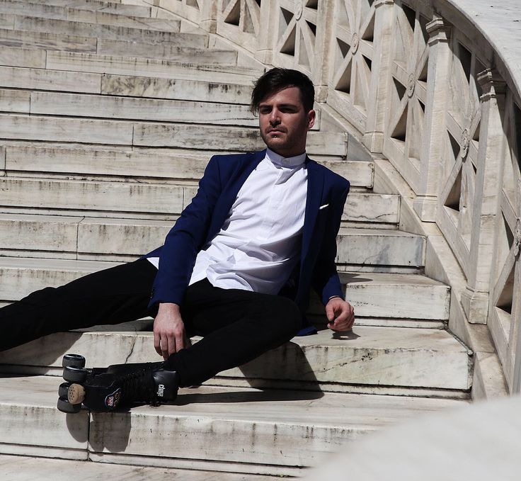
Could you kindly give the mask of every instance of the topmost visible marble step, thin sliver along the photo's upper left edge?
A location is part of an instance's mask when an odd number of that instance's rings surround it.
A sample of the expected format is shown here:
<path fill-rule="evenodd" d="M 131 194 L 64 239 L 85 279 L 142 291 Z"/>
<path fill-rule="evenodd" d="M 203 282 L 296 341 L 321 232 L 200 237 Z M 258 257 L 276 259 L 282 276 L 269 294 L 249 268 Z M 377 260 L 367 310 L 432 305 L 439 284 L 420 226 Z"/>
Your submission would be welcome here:
<path fill-rule="evenodd" d="M 151 17 L 154 9 L 151 6 L 121 4 L 115 1 L 98 1 L 98 0 L 23 0 L 10 1 L 2 0 L 2 3 L 13 4 L 22 3 L 26 5 L 27 9 L 39 9 L 44 5 L 47 9 L 55 8 L 72 8 L 79 10 L 103 11 L 107 13 L 120 13 L 121 15 L 128 15 L 134 17 Z"/>

